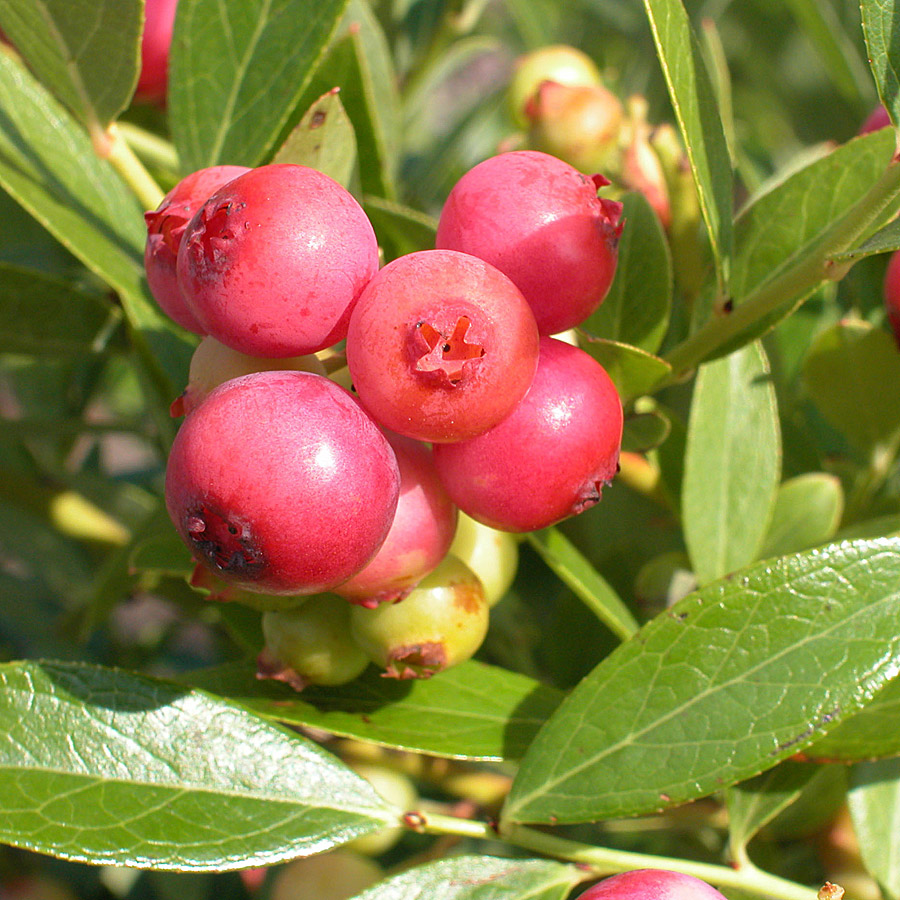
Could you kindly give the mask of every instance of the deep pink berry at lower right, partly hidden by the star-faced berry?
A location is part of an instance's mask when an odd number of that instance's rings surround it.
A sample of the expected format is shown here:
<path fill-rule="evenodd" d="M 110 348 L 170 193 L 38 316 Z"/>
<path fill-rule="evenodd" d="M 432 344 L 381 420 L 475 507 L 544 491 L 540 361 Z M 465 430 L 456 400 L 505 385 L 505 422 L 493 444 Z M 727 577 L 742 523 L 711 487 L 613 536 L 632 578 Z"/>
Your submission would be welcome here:
<path fill-rule="evenodd" d="M 434 448 L 450 499 L 501 531 L 547 528 L 599 502 L 622 443 L 622 404 L 583 350 L 541 338 L 531 389 L 499 425 Z"/>

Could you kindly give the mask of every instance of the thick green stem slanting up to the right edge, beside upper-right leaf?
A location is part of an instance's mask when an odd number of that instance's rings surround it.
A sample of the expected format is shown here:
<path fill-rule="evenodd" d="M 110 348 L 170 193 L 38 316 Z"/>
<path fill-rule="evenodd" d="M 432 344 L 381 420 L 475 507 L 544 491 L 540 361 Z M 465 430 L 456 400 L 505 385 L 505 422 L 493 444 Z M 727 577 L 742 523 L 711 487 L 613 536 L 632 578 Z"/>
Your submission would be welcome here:
<path fill-rule="evenodd" d="M 732 312 L 714 316 L 694 334 L 673 348 L 665 357 L 672 372 L 657 389 L 678 382 L 687 372 L 714 356 L 745 329 L 763 320 L 779 307 L 809 294 L 828 279 L 841 277 L 832 257 L 851 247 L 878 219 L 900 190 L 900 165 L 892 161 L 885 173 L 819 242 L 819 247 L 795 265 L 757 286 Z M 847 264 L 850 265 L 849 263 Z M 799 302 L 799 300 L 798 300 Z"/>

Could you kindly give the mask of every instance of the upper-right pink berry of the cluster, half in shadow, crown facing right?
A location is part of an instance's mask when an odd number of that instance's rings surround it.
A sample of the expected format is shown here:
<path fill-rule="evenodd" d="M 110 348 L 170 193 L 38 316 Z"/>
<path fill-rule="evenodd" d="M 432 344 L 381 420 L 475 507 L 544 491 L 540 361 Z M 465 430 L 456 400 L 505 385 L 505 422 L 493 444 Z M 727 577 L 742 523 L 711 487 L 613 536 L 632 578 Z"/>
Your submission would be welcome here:
<path fill-rule="evenodd" d="M 435 246 L 496 266 L 541 334 L 565 331 L 600 305 L 615 275 L 622 205 L 597 197 L 606 183 L 546 153 L 501 153 L 454 185 Z"/>

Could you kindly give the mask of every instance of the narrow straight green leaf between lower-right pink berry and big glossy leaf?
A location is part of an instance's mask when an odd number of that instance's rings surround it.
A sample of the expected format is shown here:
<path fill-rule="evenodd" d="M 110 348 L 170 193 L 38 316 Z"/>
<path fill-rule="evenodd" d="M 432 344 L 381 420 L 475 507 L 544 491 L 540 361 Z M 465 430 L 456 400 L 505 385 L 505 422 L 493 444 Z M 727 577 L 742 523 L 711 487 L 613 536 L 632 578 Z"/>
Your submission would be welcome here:
<path fill-rule="evenodd" d="M 613 634 L 627 640 L 637 631 L 631 610 L 559 529 L 532 531 L 528 542 Z"/>

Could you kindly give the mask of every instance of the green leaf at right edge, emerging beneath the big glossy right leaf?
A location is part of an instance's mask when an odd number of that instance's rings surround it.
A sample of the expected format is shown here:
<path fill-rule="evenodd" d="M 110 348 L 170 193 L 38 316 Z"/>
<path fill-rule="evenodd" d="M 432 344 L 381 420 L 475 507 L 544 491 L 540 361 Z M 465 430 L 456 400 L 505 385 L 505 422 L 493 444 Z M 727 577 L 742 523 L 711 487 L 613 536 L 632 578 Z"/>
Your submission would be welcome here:
<path fill-rule="evenodd" d="M 900 679 L 889 681 L 861 712 L 816 741 L 806 754 L 848 762 L 900 756 Z"/>

